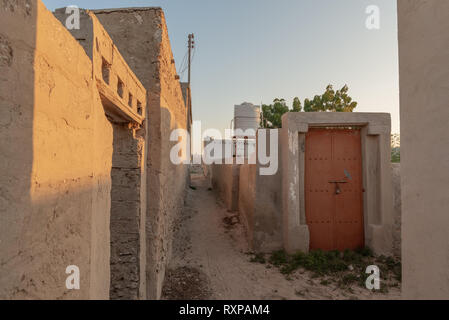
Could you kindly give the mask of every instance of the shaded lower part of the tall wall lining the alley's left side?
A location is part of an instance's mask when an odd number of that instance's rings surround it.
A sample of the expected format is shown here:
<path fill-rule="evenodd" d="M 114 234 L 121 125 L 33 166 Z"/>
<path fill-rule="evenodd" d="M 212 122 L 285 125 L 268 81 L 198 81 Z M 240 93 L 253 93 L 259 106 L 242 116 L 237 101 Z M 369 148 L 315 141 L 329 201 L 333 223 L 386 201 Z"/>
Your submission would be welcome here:
<path fill-rule="evenodd" d="M 184 207 L 184 196 L 188 170 L 186 165 L 174 165 L 170 151 L 177 142 L 170 141 L 171 130 L 177 128 L 169 109 L 160 108 L 150 121 L 150 136 L 153 137 L 149 151 L 147 181 L 147 288 L 148 298 L 159 298 L 165 278 L 165 268 L 170 262 L 173 241 L 173 226 Z M 153 121 L 153 122 L 152 122 Z M 158 124 L 155 122 L 158 121 Z M 151 134 L 153 133 L 153 134 Z M 155 142 L 154 139 L 160 139 Z M 156 147 L 156 148 L 155 148 Z M 157 148 L 159 147 L 159 148 Z M 151 148 L 151 147 L 150 147 Z"/>

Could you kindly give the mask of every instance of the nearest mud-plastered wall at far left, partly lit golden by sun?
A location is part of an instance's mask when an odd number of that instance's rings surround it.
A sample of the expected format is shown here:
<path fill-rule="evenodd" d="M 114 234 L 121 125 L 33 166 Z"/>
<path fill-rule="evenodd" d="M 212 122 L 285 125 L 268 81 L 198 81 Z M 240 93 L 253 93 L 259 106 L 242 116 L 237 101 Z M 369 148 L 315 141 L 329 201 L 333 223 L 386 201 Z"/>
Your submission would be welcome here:
<path fill-rule="evenodd" d="M 112 126 L 91 61 L 40 1 L 2 1 L 0 41 L 0 298 L 108 298 Z"/>

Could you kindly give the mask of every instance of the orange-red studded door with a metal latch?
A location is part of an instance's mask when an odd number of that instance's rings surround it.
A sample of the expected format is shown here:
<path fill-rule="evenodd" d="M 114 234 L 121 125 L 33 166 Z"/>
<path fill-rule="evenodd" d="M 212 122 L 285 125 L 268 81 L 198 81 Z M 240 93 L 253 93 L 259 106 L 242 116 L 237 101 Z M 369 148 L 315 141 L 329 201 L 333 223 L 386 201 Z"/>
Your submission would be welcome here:
<path fill-rule="evenodd" d="M 306 135 L 305 207 L 310 249 L 364 247 L 360 130 L 311 129 Z"/>

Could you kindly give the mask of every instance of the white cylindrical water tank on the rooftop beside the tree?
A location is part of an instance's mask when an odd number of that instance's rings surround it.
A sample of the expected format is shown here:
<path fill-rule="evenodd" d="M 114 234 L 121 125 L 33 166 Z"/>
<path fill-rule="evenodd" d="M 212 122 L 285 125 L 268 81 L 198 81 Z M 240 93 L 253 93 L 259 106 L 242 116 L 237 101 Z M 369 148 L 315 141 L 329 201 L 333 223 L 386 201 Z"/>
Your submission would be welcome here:
<path fill-rule="evenodd" d="M 252 103 L 244 102 L 241 105 L 236 105 L 234 107 L 234 130 L 247 131 L 248 129 L 253 129 L 254 134 L 242 135 L 235 132 L 237 138 L 249 139 L 256 137 L 257 129 L 260 128 L 260 107 L 255 106 Z"/>

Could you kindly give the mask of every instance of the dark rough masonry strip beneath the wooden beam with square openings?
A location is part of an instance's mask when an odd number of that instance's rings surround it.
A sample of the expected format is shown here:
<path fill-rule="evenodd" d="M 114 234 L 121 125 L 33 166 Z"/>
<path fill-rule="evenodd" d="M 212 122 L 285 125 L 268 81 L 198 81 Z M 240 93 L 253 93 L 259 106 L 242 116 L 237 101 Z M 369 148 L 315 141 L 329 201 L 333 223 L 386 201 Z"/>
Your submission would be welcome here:
<path fill-rule="evenodd" d="M 110 298 L 137 300 L 144 277 L 141 257 L 141 178 L 144 139 L 128 125 L 114 124 L 111 189 Z"/>

